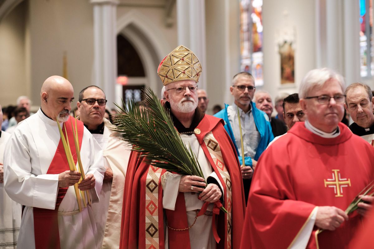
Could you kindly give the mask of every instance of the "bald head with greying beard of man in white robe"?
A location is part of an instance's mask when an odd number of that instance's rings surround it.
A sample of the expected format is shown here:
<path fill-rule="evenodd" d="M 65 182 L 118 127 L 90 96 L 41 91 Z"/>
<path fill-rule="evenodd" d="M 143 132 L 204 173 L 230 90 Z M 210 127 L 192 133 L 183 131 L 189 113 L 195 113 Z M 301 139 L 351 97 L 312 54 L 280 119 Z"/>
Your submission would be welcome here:
<path fill-rule="evenodd" d="M 65 122 L 69 118 L 70 103 L 74 99 L 73 86 L 61 76 L 51 76 L 42 85 L 40 99 L 41 108 L 49 118 Z"/>

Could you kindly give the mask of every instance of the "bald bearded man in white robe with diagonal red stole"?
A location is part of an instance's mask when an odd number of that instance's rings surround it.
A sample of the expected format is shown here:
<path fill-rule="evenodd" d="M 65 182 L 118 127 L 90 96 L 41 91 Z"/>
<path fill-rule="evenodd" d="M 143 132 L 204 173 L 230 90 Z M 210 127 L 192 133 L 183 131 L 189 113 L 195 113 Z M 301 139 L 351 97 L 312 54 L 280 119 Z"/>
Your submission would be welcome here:
<path fill-rule="evenodd" d="M 69 113 L 73 99 L 68 80 L 47 78 L 40 91 L 39 111 L 22 121 L 7 143 L 5 190 L 24 206 L 18 248 L 99 248 L 91 205 L 81 198 L 80 212 L 73 185 L 80 182 L 78 189 L 89 190 L 92 202 L 98 201 L 105 171 L 101 148 L 77 121 L 77 143 L 85 172 L 80 181 L 80 172 L 69 170 L 57 124 L 67 134 L 77 163 L 72 128 L 76 120 Z"/>

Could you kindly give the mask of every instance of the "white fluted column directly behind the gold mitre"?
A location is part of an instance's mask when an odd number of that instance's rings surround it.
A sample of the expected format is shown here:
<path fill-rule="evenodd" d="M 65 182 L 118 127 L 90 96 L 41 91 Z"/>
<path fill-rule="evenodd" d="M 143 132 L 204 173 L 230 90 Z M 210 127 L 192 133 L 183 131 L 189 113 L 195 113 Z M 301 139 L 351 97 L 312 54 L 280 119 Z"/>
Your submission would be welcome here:
<path fill-rule="evenodd" d="M 177 30 L 178 45 L 191 49 L 200 60 L 199 88 L 206 89 L 205 1 L 177 0 Z"/>

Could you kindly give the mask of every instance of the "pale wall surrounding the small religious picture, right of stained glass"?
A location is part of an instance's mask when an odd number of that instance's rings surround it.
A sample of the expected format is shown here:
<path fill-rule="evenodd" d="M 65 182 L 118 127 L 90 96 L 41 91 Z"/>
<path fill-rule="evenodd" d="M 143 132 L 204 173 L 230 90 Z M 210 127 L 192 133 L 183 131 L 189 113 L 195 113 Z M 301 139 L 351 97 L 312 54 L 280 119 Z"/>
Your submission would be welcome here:
<path fill-rule="evenodd" d="M 283 12 L 288 12 L 285 18 Z M 286 21 L 288 20 L 288 21 Z M 276 33 L 285 23 L 295 29 L 295 85 L 281 85 L 281 59 Z M 263 5 L 264 86 L 273 99 L 279 92 L 297 93 L 301 79 L 316 67 L 315 1 L 266 0 Z"/>

